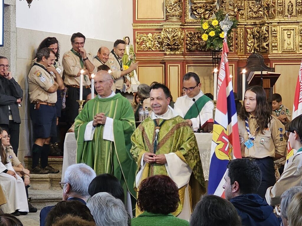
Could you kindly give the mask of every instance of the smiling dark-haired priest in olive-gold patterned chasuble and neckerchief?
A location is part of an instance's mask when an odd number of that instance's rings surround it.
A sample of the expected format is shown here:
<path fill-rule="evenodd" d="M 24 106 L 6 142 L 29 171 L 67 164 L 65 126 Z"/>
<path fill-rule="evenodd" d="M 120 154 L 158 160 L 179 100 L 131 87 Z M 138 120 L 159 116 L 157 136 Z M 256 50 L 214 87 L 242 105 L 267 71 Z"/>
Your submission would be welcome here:
<path fill-rule="evenodd" d="M 134 187 L 145 178 L 163 174 L 179 189 L 179 206 L 173 215 L 189 220 L 193 206 L 205 193 L 204 175 L 193 130 L 170 106 L 170 91 L 154 84 L 150 91 L 153 112 L 134 131 L 130 150 L 137 162 Z M 154 188 L 156 191 L 156 188 Z M 136 216 L 140 214 L 136 209 Z"/>

